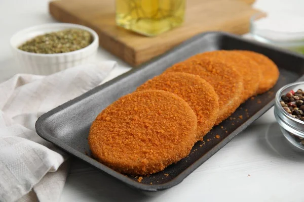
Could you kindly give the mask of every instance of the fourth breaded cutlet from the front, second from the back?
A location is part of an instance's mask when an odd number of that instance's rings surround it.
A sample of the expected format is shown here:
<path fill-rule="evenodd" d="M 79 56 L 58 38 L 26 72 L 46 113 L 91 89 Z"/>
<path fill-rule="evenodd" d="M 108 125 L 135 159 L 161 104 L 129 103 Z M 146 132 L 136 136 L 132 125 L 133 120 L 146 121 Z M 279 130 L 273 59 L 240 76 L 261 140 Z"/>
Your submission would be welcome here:
<path fill-rule="evenodd" d="M 232 65 L 243 77 L 243 102 L 257 94 L 259 82 L 262 78 L 260 68 L 250 58 L 231 51 L 213 51 L 198 54 L 193 58 L 210 58 Z"/>

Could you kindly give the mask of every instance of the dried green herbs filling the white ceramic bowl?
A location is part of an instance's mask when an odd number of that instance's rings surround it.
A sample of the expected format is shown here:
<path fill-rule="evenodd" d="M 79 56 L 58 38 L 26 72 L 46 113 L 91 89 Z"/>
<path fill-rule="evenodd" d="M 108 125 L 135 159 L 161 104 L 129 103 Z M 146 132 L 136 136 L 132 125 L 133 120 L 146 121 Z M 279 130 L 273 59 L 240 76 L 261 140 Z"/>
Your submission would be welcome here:
<path fill-rule="evenodd" d="M 18 49 L 37 54 L 59 54 L 77 51 L 90 45 L 93 37 L 83 29 L 65 29 L 36 36 Z"/>

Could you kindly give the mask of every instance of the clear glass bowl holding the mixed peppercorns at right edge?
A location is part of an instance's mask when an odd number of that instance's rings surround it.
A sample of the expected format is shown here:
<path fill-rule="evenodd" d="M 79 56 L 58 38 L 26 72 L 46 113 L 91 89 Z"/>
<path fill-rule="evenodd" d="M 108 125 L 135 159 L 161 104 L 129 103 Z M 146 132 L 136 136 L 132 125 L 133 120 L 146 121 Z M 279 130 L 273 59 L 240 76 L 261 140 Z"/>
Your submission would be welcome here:
<path fill-rule="evenodd" d="M 288 114 L 280 104 L 281 96 L 290 90 L 304 89 L 304 82 L 296 82 L 283 86 L 276 93 L 275 117 L 286 139 L 294 146 L 304 150 L 304 122 Z"/>

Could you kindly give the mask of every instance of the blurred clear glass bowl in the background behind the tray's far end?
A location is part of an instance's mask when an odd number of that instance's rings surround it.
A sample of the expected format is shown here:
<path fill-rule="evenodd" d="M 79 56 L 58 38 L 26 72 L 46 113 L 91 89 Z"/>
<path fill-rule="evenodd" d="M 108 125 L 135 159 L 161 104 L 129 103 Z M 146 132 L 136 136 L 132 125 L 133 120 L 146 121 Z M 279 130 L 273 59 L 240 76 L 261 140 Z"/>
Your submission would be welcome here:
<path fill-rule="evenodd" d="M 250 33 L 254 39 L 304 54 L 304 15 L 273 12 L 253 15 Z"/>

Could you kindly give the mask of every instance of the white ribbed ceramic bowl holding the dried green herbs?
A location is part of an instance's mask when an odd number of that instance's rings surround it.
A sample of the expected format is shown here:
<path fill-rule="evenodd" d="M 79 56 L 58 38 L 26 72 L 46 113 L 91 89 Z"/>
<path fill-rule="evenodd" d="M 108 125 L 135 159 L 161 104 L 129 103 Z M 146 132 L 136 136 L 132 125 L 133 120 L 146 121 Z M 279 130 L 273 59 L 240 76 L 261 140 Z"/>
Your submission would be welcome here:
<path fill-rule="evenodd" d="M 18 49 L 19 45 L 37 35 L 73 28 L 89 31 L 93 37 L 92 43 L 87 47 L 79 49 L 78 51 L 60 54 L 36 54 Z M 93 62 L 96 57 L 98 44 L 98 35 L 94 30 L 82 25 L 69 23 L 37 25 L 21 30 L 14 34 L 11 38 L 11 46 L 13 48 L 14 57 L 19 63 L 20 68 L 22 69 L 21 71 L 40 75 L 49 75 L 73 66 Z"/>

